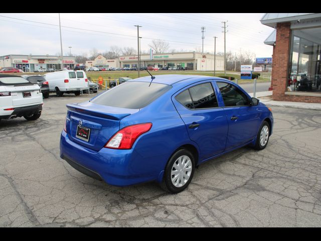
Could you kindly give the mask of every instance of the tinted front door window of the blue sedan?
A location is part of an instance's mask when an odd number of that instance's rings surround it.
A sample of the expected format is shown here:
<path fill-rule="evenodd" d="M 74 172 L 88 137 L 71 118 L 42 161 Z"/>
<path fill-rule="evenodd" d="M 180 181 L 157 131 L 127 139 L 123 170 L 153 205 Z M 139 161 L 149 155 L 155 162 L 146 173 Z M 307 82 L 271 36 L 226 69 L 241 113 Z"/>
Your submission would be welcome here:
<path fill-rule="evenodd" d="M 217 82 L 220 92 L 223 96 L 225 106 L 249 105 L 249 99 L 236 86 L 228 83 Z"/>

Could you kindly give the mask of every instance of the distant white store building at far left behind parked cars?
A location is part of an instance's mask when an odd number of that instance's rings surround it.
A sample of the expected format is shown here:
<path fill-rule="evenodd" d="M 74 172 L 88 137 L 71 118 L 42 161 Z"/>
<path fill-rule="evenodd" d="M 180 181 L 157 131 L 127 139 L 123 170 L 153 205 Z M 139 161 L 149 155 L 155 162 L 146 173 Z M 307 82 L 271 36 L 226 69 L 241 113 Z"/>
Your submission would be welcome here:
<path fill-rule="evenodd" d="M 63 67 L 73 69 L 74 56 L 63 56 Z M 5 55 L 0 57 L 0 68 L 14 67 L 24 72 L 34 72 L 38 69 L 62 69 L 61 56 L 55 55 Z"/>

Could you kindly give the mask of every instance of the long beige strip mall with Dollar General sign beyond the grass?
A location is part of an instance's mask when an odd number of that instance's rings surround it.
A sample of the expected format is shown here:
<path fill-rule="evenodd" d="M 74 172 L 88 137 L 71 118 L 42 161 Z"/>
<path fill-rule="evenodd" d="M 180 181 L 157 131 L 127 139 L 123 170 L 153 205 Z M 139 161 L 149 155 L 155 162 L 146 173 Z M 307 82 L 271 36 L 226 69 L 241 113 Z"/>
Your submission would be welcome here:
<path fill-rule="evenodd" d="M 117 59 L 106 59 L 99 55 L 95 60 L 86 61 L 86 67 L 137 67 L 137 55 L 120 56 Z M 224 57 L 216 56 L 216 70 L 224 70 Z M 169 67 L 169 68 L 188 68 L 190 70 L 214 70 L 214 55 L 202 54 L 197 52 L 184 53 L 165 53 L 153 55 L 141 55 L 140 65 L 153 67 Z"/>

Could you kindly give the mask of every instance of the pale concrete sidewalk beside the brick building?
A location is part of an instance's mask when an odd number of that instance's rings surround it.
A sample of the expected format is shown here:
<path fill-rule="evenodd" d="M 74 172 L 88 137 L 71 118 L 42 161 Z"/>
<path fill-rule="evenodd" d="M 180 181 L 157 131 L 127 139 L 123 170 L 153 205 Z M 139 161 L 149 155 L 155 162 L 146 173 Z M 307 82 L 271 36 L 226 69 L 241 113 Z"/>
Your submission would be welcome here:
<path fill-rule="evenodd" d="M 271 96 L 271 91 L 256 92 L 255 97 L 260 98 L 264 96 Z M 249 93 L 253 97 L 253 93 Z M 305 103 L 305 102 L 292 102 L 292 101 L 276 101 L 271 99 L 260 99 L 260 102 L 266 105 L 301 108 L 301 109 L 321 109 L 321 103 Z"/>

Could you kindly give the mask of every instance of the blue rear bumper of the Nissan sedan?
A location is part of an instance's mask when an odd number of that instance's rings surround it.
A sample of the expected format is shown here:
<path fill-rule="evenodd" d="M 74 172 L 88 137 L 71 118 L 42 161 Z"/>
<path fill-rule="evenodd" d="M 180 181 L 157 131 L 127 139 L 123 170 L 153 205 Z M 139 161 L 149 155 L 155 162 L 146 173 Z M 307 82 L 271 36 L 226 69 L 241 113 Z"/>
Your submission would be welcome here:
<path fill-rule="evenodd" d="M 68 134 L 69 135 L 69 134 Z M 71 141 L 65 131 L 60 138 L 60 157 L 76 170 L 115 186 L 128 186 L 155 180 L 145 170 L 132 167 L 133 149 L 102 148 L 94 151 Z"/>

